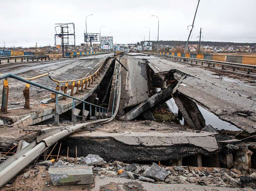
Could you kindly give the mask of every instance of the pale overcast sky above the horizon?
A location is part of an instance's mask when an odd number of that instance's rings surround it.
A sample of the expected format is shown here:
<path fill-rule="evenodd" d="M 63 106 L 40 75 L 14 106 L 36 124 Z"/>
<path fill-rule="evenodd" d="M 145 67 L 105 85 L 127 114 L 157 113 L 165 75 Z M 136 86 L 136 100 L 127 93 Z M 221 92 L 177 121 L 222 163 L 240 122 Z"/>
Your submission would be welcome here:
<path fill-rule="evenodd" d="M 114 36 L 114 43 L 159 40 L 186 40 L 187 26 L 193 22 L 197 0 L 0 0 L 0 46 L 31 47 L 54 45 L 55 23 L 75 23 L 76 45 L 83 43 L 85 18 L 87 32 Z M 201 0 L 191 40 L 256 42 L 255 0 Z"/>

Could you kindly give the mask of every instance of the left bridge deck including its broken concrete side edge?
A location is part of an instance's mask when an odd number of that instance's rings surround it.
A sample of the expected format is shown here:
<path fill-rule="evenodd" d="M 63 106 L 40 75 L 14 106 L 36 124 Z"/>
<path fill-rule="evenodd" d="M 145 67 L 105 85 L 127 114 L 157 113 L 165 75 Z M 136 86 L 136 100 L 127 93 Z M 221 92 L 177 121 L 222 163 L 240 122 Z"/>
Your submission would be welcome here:
<path fill-rule="evenodd" d="M 49 63 L 51 67 L 55 67 L 55 70 L 51 75 L 51 77 L 56 78 L 58 80 L 67 80 L 67 79 L 78 79 L 82 78 L 84 76 L 88 76 L 89 74 L 95 72 L 98 69 L 98 66 L 102 64 L 102 62 L 105 60 L 107 56 L 110 56 L 111 54 L 107 54 L 104 56 L 94 56 L 96 59 L 92 59 L 94 57 L 86 57 L 86 59 L 78 58 L 78 59 L 71 59 L 71 60 L 62 60 L 61 62 L 57 61 L 57 63 Z M 90 87 L 87 87 L 86 90 L 83 92 L 79 92 L 78 94 L 74 94 L 74 97 L 77 97 L 79 99 L 85 100 L 88 98 L 94 90 L 97 88 L 98 84 L 101 82 L 101 80 L 104 77 L 105 72 L 107 71 L 108 67 L 110 66 L 111 61 L 108 62 L 104 70 L 102 71 L 102 74 L 93 82 L 93 84 L 90 85 Z M 39 63 L 40 64 L 40 63 Z M 48 64 L 48 63 L 46 63 Z M 64 66 L 63 66 L 64 65 Z M 38 67 L 40 65 L 37 65 Z M 49 66 L 50 67 L 50 66 Z M 43 67 L 44 68 L 44 67 Z M 13 69 L 13 68 L 12 68 Z M 21 70 L 21 69 L 20 69 Z M 31 69 L 33 70 L 33 69 Z M 15 74 L 18 74 L 23 77 L 27 77 L 27 73 L 29 73 L 30 69 L 26 67 L 24 70 L 25 72 L 18 72 L 14 71 Z M 46 73 L 49 71 L 49 68 L 44 68 L 44 72 Z M 13 71 L 9 71 L 13 72 Z M 31 71 L 30 71 L 31 72 Z M 35 71 L 37 74 L 39 71 Z M 37 75 L 33 74 L 33 75 Z M 40 75 L 42 73 L 39 73 Z M 30 74 L 31 76 L 31 74 Z M 29 77 L 30 77 L 29 76 Z M 4 121 L 9 121 L 11 123 L 17 122 L 18 120 L 30 115 L 31 116 L 31 122 L 28 121 L 28 124 L 26 125 L 33 125 L 38 122 L 44 121 L 46 119 L 51 118 L 54 116 L 55 111 L 55 103 L 49 102 L 48 104 L 40 104 L 39 101 L 42 99 L 50 98 L 50 92 L 47 90 L 41 90 L 40 88 L 35 88 L 33 86 L 30 86 L 30 109 L 24 108 L 23 104 L 23 94 L 22 91 L 25 87 L 25 83 L 9 79 L 9 99 L 8 103 L 11 105 L 11 102 L 18 102 L 19 105 L 14 105 L 15 108 L 8 107 L 8 113 L 1 113 L 0 118 L 4 119 Z M 56 88 L 56 83 L 48 78 L 48 76 L 44 76 L 42 78 L 34 80 L 37 83 L 40 83 L 42 85 L 45 85 L 47 87 Z M 16 83 L 16 84 L 15 84 Z M 18 84 L 18 85 L 17 85 Z M 60 84 L 65 85 L 65 83 Z M 39 90 L 39 92 L 38 92 Z M 74 93 L 76 91 L 76 88 L 74 89 Z M 33 94 L 32 94 L 33 92 Z M 1 92 L 2 93 L 2 92 Z M 32 102 L 32 103 L 31 103 Z M 75 105 L 78 105 L 80 102 L 75 101 Z M 64 112 L 70 110 L 72 108 L 72 99 L 67 98 L 66 100 L 59 99 L 59 105 L 62 105 Z"/>

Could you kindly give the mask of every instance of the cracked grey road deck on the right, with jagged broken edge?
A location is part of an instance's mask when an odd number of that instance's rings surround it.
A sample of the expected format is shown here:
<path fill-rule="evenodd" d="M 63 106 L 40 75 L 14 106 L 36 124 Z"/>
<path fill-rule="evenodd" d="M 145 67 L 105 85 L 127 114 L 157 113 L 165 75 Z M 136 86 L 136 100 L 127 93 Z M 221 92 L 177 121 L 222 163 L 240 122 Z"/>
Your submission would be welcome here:
<path fill-rule="evenodd" d="M 256 132 L 255 77 L 159 57 L 147 57 L 155 73 L 188 75 L 178 91 L 198 105 L 249 133 Z M 182 75 L 183 75 L 182 74 Z M 249 115 L 240 116 L 238 113 Z"/>

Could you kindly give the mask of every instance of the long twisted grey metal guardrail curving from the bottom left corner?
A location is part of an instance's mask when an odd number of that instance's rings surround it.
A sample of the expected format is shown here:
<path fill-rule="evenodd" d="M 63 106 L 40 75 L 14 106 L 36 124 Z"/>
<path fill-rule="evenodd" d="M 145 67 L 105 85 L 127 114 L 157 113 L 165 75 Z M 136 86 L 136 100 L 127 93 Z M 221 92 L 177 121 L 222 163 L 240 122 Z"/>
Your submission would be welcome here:
<path fill-rule="evenodd" d="M 66 137 L 67 135 L 85 127 L 91 124 L 96 123 L 107 123 L 112 121 L 118 110 L 119 110 L 119 104 L 120 104 L 120 96 L 121 96 L 121 73 L 118 69 L 118 72 L 120 74 L 120 78 L 116 79 L 118 80 L 118 99 L 116 102 L 116 109 L 113 116 L 106 119 L 99 119 L 96 121 L 91 121 L 88 123 L 78 124 L 78 125 L 71 125 L 67 126 L 66 128 L 60 128 L 55 134 L 52 132 L 46 133 L 44 135 L 39 136 L 37 140 L 33 141 L 20 151 L 18 151 L 16 154 L 5 160 L 2 164 L 0 164 L 0 188 L 8 183 L 14 176 L 16 176 L 20 171 L 22 171 L 27 165 L 29 165 L 31 162 L 33 162 L 37 157 L 39 157 L 46 149 L 48 149 L 52 144 L 56 143 L 58 140 Z M 8 73 L 7 73 L 8 74 Z M 15 75 L 14 75 L 15 76 Z M 14 77 L 13 76 L 13 77 Z M 1 78 L 1 77 L 0 77 Z M 16 78 L 15 78 L 16 79 Z M 49 135 L 49 136 L 48 136 Z M 40 139 L 40 137 L 46 137 L 44 139 Z M 37 144 L 38 143 L 38 144 Z"/>

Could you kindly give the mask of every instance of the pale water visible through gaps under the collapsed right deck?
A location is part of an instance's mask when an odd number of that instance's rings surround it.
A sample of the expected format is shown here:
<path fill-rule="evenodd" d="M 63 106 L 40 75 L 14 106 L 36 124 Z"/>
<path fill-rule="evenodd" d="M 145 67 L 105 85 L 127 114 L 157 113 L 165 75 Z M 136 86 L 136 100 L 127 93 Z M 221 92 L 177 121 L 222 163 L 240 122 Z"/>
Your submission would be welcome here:
<path fill-rule="evenodd" d="M 161 90 L 160 88 L 156 88 L 157 92 L 160 91 L 160 90 Z M 168 105 L 169 110 L 172 113 L 178 115 L 179 109 L 178 109 L 178 107 L 177 107 L 173 98 L 169 99 L 165 103 Z M 197 107 L 198 107 L 199 111 L 201 112 L 201 114 L 203 115 L 203 117 L 205 119 L 205 124 L 211 125 L 213 128 L 216 128 L 218 130 L 221 130 L 221 129 L 231 130 L 231 131 L 239 131 L 240 130 L 239 128 L 230 124 L 229 122 L 221 120 L 218 116 L 216 116 L 213 113 L 207 111 L 205 108 L 203 108 L 199 105 L 197 105 Z M 182 120 L 179 119 L 179 121 L 180 121 L 180 124 L 184 125 L 184 118 L 183 117 L 182 117 Z"/>

